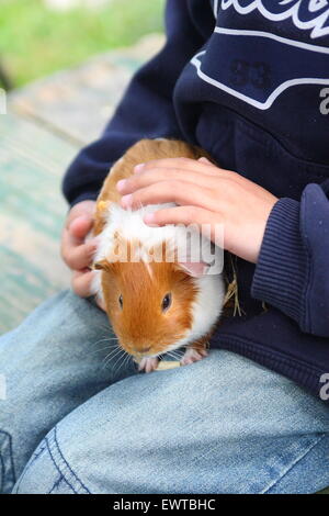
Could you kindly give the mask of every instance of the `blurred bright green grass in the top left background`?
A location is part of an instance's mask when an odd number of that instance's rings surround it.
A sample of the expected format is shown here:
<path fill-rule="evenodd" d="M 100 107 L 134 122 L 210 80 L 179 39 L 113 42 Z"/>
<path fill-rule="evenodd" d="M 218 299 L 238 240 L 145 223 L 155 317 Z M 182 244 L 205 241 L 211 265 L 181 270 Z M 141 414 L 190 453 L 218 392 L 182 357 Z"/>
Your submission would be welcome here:
<path fill-rule="evenodd" d="M 112 0 L 99 10 L 47 9 L 42 0 L 0 0 L 0 58 L 22 86 L 93 54 L 163 30 L 164 0 Z"/>

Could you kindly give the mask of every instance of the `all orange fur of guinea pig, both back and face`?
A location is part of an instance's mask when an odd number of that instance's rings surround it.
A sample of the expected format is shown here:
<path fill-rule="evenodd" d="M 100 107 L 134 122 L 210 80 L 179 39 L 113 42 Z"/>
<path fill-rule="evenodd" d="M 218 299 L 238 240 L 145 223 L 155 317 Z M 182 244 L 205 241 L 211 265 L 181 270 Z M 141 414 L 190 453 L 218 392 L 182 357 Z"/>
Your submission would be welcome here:
<path fill-rule="evenodd" d="M 120 179 L 133 175 L 140 162 L 168 157 L 197 159 L 211 157 L 183 142 L 156 139 L 140 141 L 131 147 L 109 173 L 97 203 L 93 234 L 102 232 L 109 216 L 109 204 L 120 203 L 116 190 Z M 116 235 L 120 238 L 120 235 Z M 136 235 L 136 238 L 138 235 Z M 132 243 L 126 243 L 134 254 Z M 137 240 L 138 245 L 138 240 Z M 115 249 L 114 249 L 115 251 Z M 103 301 L 113 329 L 121 346 L 135 357 L 156 356 L 164 352 L 168 343 L 179 341 L 192 326 L 192 304 L 197 294 L 194 279 L 174 262 L 111 261 L 111 258 L 97 265 L 102 269 L 101 285 Z M 161 311 L 163 296 L 171 292 L 173 302 L 167 312 Z M 118 298 L 123 296 L 123 310 Z M 190 345 L 204 350 L 209 335 Z"/>

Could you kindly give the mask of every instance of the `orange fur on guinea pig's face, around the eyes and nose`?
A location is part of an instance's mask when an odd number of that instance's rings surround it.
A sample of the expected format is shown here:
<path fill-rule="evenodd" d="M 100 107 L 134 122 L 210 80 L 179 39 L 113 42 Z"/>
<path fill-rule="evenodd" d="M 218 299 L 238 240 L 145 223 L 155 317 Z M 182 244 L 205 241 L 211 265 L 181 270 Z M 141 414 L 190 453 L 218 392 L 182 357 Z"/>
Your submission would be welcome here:
<path fill-rule="evenodd" d="M 102 291 L 113 329 L 132 355 L 164 352 L 168 343 L 183 338 L 192 325 L 190 307 L 196 289 L 193 279 L 174 262 L 106 260 Z M 163 313 L 161 302 L 168 292 L 174 301 Z M 117 302 L 120 295 L 123 310 Z"/>

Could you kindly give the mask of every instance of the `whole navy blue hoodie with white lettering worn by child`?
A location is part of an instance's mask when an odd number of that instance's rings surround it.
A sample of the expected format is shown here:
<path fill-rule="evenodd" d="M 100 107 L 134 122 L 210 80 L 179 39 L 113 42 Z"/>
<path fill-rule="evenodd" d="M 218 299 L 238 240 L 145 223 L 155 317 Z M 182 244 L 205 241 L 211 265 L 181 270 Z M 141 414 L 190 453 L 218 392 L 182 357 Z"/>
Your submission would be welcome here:
<path fill-rule="evenodd" d="M 110 166 L 144 137 L 197 144 L 271 191 L 280 200 L 259 261 L 237 262 L 246 316 L 225 319 L 212 346 L 328 401 L 329 3 L 168 0 L 166 26 L 164 47 L 69 167 L 64 193 L 71 205 L 97 199 Z"/>

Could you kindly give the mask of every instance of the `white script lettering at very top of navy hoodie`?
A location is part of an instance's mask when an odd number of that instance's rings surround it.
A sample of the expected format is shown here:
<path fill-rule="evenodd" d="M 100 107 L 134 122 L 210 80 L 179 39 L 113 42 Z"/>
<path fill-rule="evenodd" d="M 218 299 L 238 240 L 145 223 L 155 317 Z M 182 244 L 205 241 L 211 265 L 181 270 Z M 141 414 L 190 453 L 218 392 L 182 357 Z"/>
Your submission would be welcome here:
<path fill-rule="evenodd" d="M 216 18 L 219 14 L 219 3 L 224 11 L 229 8 L 234 8 L 239 14 L 259 11 L 274 22 L 291 18 L 296 27 L 311 30 L 311 38 L 329 34 L 328 0 L 214 0 Z"/>

